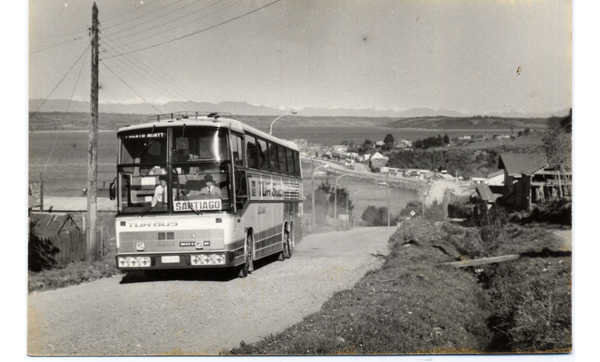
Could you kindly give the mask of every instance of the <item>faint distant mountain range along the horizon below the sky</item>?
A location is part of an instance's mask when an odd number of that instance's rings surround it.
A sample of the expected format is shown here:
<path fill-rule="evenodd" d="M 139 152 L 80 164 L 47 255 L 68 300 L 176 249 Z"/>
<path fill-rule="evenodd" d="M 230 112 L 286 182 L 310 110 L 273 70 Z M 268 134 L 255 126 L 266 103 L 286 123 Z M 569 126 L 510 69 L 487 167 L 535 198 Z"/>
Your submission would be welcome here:
<path fill-rule="evenodd" d="M 42 105 L 43 103 L 43 105 Z M 41 99 L 29 100 L 29 111 L 33 112 L 38 107 L 39 112 L 72 112 L 85 113 L 90 111 L 89 102 L 71 101 L 66 99 Z M 171 113 L 185 110 L 194 110 L 200 112 L 221 112 L 233 115 L 248 116 L 277 116 L 283 114 L 288 109 L 279 109 L 267 106 L 252 105 L 246 102 L 169 102 L 166 104 L 100 104 L 101 113 L 120 113 L 120 114 L 157 114 Z M 68 110 L 67 110 L 68 108 Z M 299 116 L 305 117 L 389 117 L 389 118 L 417 118 L 417 117 L 472 117 L 472 116 L 493 116 L 502 118 L 549 118 L 564 117 L 569 110 L 556 110 L 543 113 L 525 113 L 525 112 L 484 112 L 484 113 L 465 113 L 447 109 L 434 110 L 430 108 L 411 108 L 402 111 L 392 109 L 378 110 L 372 108 L 301 108 L 297 109 Z"/>

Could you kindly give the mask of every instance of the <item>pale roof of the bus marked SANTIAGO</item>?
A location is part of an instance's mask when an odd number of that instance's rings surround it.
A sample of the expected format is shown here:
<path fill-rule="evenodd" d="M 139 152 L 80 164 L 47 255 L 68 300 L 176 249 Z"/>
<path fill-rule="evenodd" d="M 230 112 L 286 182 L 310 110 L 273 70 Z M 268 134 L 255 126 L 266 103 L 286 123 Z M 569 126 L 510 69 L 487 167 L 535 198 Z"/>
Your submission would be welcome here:
<path fill-rule="evenodd" d="M 172 117 L 170 117 L 172 116 Z M 185 114 L 181 116 L 179 113 L 174 113 L 170 115 L 161 115 L 161 116 L 153 116 L 151 118 L 155 118 L 156 120 L 130 125 L 119 128 L 117 134 L 125 131 L 134 131 L 138 129 L 144 128 L 167 128 L 167 127 L 176 127 L 176 126 L 200 126 L 200 127 L 225 127 L 231 129 L 232 131 L 237 131 L 240 133 L 252 133 L 253 135 L 262 137 L 268 141 L 275 142 L 277 144 L 284 145 L 288 148 L 293 149 L 294 151 L 299 151 L 298 145 L 296 145 L 292 141 L 288 141 L 285 139 L 277 138 L 272 136 L 266 132 L 263 132 L 257 128 L 244 124 L 238 120 L 231 118 L 221 118 L 218 115 L 209 114 L 209 115 L 195 115 L 195 114 Z"/>

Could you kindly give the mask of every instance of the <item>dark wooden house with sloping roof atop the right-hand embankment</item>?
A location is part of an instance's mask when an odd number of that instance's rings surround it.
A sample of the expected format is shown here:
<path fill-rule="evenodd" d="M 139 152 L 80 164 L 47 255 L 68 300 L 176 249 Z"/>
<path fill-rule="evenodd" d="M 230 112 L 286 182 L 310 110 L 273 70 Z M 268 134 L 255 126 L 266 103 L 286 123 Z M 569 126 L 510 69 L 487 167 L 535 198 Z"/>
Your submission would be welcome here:
<path fill-rule="evenodd" d="M 561 174 L 543 154 L 502 154 L 498 168 L 504 170 L 500 201 L 517 210 L 571 195 L 571 172 Z"/>

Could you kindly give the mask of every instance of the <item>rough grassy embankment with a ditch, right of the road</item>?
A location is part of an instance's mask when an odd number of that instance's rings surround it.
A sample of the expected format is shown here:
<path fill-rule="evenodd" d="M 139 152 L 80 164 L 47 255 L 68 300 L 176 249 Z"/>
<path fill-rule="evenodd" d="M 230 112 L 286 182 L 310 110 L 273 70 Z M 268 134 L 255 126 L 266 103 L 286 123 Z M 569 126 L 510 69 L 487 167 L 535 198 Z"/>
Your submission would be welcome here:
<path fill-rule="evenodd" d="M 336 293 L 318 313 L 236 355 L 568 352 L 571 257 L 538 228 L 402 223 L 379 270 Z M 484 241 L 488 240 L 488 241 Z M 521 253 L 457 269 L 440 263 Z"/>

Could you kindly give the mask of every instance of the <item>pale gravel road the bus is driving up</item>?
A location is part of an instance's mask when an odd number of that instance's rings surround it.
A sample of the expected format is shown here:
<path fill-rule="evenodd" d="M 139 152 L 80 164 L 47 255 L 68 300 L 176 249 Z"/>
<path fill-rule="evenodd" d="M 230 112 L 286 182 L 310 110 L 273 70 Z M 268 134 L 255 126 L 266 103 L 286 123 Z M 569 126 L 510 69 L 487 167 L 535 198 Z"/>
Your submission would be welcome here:
<path fill-rule="evenodd" d="M 246 279 L 135 274 L 28 298 L 30 355 L 217 354 L 316 312 L 381 264 L 395 228 L 311 235 Z"/>

